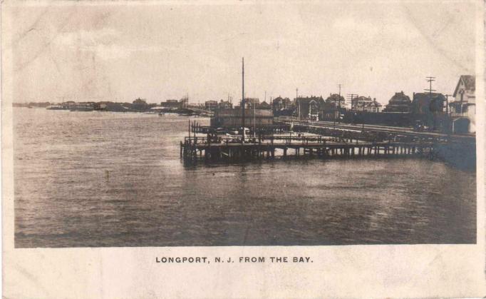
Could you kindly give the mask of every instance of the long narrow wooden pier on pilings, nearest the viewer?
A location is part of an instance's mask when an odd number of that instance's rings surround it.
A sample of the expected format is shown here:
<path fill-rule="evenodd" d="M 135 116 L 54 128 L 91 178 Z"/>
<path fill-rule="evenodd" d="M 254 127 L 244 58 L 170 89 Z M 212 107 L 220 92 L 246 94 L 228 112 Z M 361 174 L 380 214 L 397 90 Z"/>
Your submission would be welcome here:
<path fill-rule="evenodd" d="M 294 134 L 295 135 L 295 134 Z M 360 156 L 433 155 L 433 143 L 369 142 L 320 135 L 267 136 L 264 138 L 186 137 L 180 143 L 180 157 L 186 163 L 197 161 L 248 161 L 289 156 L 319 158 Z"/>

